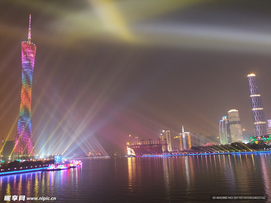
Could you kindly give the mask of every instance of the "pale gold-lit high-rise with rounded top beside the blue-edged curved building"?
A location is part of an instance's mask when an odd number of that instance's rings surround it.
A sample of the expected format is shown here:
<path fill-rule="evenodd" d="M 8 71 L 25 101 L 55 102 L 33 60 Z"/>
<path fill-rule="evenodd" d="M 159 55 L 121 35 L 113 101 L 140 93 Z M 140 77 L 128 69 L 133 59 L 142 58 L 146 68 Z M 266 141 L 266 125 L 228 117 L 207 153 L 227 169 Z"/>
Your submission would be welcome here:
<path fill-rule="evenodd" d="M 231 142 L 242 141 L 243 134 L 238 110 L 236 109 L 229 110 L 228 116 L 231 132 Z"/>

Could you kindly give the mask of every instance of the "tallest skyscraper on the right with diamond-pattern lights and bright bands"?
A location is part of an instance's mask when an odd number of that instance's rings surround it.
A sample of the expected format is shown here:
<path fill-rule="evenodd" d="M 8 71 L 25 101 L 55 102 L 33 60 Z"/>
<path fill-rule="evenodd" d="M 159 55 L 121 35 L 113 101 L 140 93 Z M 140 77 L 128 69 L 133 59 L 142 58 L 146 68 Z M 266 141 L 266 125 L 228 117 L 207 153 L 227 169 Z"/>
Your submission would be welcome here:
<path fill-rule="evenodd" d="M 253 113 L 256 136 L 266 136 L 266 123 L 263 113 L 263 104 L 255 74 L 247 76 L 249 79 L 250 103 Z"/>

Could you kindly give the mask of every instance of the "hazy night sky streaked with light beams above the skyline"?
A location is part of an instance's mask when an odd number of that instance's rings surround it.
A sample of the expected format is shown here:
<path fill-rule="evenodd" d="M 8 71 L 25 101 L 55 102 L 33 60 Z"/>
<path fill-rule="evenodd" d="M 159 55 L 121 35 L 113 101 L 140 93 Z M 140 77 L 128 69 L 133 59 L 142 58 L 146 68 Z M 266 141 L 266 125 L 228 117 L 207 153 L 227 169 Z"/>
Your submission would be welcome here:
<path fill-rule="evenodd" d="M 32 87 L 36 154 L 87 153 L 96 139 L 126 153 L 128 136 L 219 135 L 237 109 L 252 133 L 247 75 L 271 119 L 270 1 L 0 2 L 0 136 L 16 136 L 21 42 L 37 46 Z M 80 145 L 80 147 L 78 147 Z M 83 151 L 83 152 L 82 152 Z"/>

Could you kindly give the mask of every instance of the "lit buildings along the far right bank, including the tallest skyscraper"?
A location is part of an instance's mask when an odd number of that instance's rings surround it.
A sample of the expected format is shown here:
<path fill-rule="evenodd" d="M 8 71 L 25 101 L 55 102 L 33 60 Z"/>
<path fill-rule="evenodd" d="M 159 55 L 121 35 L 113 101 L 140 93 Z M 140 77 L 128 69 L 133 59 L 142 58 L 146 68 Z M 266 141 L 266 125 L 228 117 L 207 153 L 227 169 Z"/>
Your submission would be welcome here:
<path fill-rule="evenodd" d="M 253 113 L 254 121 L 254 139 L 252 139 L 252 134 L 247 133 L 246 129 L 242 129 L 239 112 L 236 109 L 231 109 L 228 111 L 227 116 L 223 116 L 219 123 L 219 138 L 220 143 L 206 143 L 205 138 L 202 133 L 191 133 L 184 132 L 182 128 L 182 133 L 179 136 L 170 137 L 169 130 L 163 130 L 159 136 L 159 139 L 152 140 L 138 140 L 139 137 L 132 138 L 129 136 L 129 142 L 127 142 L 128 151 L 137 150 L 142 153 L 149 153 L 156 151 L 171 152 L 175 150 L 189 150 L 196 146 L 208 146 L 208 145 L 227 145 L 233 142 L 244 142 L 266 139 L 270 141 L 271 144 L 271 120 L 268 120 L 268 129 L 266 128 L 266 122 L 263 113 L 263 104 L 259 92 L 258 83 L 255 74 L 249 74 L 249 89 L 250 89 L 250 103 L 251 110 Z M 269 142 L 268 141 L 268 142 Z M 257 142 L 258 143 L 258 142 Z M 144 145 L 144 146 L 143 146 Z M 144 151 L 144 152 L 143 152 Z M 157 153 L 157 152 L 156 152 Z"/>

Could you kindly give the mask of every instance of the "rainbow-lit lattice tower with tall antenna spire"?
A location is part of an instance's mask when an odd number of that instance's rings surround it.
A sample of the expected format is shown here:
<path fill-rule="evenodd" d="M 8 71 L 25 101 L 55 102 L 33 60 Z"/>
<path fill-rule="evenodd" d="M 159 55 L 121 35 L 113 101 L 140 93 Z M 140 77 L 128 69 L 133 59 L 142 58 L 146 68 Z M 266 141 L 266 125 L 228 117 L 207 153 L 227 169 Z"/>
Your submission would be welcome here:
<path fill-rule="evenodd" d="M 22 91 L 14 156 L 33 155 L 31 127 L 31 90 L 36 46 L 31 43 L 29 20 L 28 40 L 22 42 Z"/>

